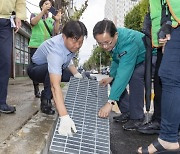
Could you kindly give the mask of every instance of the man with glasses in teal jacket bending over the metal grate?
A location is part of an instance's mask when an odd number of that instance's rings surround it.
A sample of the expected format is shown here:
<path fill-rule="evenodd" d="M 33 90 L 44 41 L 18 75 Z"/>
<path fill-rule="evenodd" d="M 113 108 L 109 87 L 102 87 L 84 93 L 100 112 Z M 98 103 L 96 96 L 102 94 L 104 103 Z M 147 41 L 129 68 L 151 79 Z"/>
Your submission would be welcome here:
<path fill-rule="evenodd" d="M 99 21 L 93 35 L 99 46 L 112 52 L 110 77 L 102 79 L 101 84 L 112 83 L 108 102 L 100 109 L 99 116 L 107 117 L 114 101 L 127 98 L 126 109 L 129 121 L 123 125 L 125 130 L 137 129 L 144 120 L 144 59 L 146 48 L 142 38 L 143 33 L 127 28 L 116 28 L 110 20 Z M 155 58 L 153 58 L 155 63 Z M 129 84 L 129 94 L 126 87 Z M 124 111 L 122 111 L 122 109 Z"/>

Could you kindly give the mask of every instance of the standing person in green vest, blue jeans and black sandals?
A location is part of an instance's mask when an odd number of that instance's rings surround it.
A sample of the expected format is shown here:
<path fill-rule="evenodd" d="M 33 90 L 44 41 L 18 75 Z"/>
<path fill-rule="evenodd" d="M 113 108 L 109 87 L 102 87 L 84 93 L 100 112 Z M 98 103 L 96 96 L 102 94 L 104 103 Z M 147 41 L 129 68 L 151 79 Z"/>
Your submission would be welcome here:
<path fill-rule="evenodd" d="M 180 0 L 150 0 L 153 42 L 161 44 L 164 55 L 159 69 L 162 83 L 161 130 L 159 137 L 138 153 L 180 153 Z M 164 7 L 165 6 L 165 7 Z M 162 13 L 161 13 L 162 12 Z M 158 24 L 161 23 L 159 26 Z M 159 31 L 158 31 L 159 27 Z"/>

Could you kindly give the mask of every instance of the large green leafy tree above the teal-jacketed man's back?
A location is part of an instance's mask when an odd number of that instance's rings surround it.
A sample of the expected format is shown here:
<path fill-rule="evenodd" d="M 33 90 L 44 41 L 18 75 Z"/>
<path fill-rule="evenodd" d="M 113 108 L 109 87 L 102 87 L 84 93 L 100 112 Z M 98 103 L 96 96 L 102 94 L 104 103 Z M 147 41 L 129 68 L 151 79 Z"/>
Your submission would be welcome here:
<path fill-rule="evenodd" d="M 142 0 L 125 17 L 124 25 L 127 28 L 141 31 L 144 16 L 148 11 L 148 0 Z"/>

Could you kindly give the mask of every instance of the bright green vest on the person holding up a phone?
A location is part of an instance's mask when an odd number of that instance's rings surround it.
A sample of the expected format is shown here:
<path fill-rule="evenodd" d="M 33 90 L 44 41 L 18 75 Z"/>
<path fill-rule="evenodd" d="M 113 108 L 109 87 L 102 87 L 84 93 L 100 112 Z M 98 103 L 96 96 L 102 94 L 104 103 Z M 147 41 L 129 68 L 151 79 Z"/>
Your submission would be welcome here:
<path fill-rule="evenodd" d="M 54 20 L 50 17 L 45 19 L 49 30 L 53 31 Z M 38 48 L 45 40 L 49 39 L 51 36 L 44 25 L 43 19 L 41 19 L 38 24 L 32 27 L 32 34 L 29 41 L 30 48 Z"/>

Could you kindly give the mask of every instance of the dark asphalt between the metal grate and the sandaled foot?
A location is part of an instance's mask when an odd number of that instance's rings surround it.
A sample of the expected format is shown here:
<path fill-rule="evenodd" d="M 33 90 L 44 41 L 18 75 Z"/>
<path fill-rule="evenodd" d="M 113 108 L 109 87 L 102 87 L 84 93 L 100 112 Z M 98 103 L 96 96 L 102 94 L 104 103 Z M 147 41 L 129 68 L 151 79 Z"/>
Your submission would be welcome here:
<path fill-rule="evenodd" d="M 135 154 L 140 146 L 148 146 L 157 138 L 157 135 L 140 134 L 137 131 L 125 131 L 122 124 L 114 122 L 113 116 L 110 115 L 110 143 L 113 154 Z"/>

